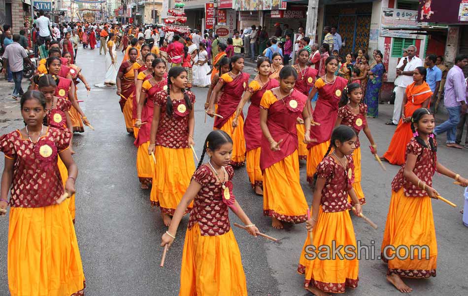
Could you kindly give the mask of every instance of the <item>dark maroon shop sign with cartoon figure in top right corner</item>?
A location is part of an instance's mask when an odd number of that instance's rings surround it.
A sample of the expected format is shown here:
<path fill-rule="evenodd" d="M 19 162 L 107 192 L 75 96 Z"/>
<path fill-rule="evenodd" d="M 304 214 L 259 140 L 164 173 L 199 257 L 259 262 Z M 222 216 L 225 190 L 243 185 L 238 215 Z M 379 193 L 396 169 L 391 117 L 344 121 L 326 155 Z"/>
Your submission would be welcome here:
<path fill-rule="evenodd" d="M 468 0 L 419 0 L 418 22 L 468 22 Z"/>

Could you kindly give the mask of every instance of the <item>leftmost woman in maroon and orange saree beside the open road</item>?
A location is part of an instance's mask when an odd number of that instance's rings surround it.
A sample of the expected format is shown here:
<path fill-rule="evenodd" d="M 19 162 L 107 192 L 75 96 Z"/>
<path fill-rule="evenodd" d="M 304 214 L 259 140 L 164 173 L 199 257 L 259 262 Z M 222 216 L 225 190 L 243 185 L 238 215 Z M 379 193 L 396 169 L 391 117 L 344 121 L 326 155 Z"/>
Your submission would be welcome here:
<path fill-rule="evenodd" d="M 135 82 L 134 82 L 134 63 L 136 62 L 136 57 L 138 55 L 138 50 L 135 47 L 129 49 L 129 60 L 122 62 L 117 73 L 117 96 L 120 97 L 120 109 L 124 113 L 125 126 L 127 127 L 127 132 L 133 134 L 134 132 L 134 123 L 132 120 L 133 113 L 133 100 L 132 96 L 135 92 Z"/>

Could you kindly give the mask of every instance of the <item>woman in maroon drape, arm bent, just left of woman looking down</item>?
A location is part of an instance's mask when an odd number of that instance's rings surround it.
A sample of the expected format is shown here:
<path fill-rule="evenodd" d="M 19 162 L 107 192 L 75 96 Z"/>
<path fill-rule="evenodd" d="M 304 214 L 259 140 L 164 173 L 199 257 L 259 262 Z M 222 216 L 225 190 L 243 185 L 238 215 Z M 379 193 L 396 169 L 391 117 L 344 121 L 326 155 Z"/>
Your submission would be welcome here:
<path fill-rule="evenodd" d="M 268 58 L 261 57 L 258 59 L 258 75 L 249 83 L 249 87 L 237 105 L 233 119 L 233 128 L 235 129 L 239 125 L 239 115 L 242 114 L 245 103 L 250 99 L 251 104 L 244 123 L 244 137 L 247 148 L 247 174 L 249 175 L 252 188 L 255 189 L 255 193 L 258 195 L 263 195 L 263 177 L 262 170 L 260 169 L 262 130 L 258 128 L 260 126 L 260 101 L 267 90 L 279 86 L 276 79 L 268 78 L 270 68 L 271 65 Z"/>

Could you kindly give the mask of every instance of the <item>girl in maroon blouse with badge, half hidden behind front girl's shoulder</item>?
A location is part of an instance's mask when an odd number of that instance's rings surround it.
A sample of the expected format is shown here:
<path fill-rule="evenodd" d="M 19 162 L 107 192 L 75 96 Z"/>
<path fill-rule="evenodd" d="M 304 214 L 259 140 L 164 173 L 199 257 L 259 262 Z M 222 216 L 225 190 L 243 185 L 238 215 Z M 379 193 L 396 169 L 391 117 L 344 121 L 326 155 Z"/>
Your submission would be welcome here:
<path fill-rule="evenodd" d="M 363 91 L 358 83 L 350 83 L 341 94 L 341 100 L 338 103 L 338 117 L 336 118 L 335 127 L 347 125 L 354 130 L 356 135 L 359 135 L 361 130 L 364 131 L 371 144 L 372 153 L 377 153 L 377 145 L 374 143 L 368 122 L 366 120 L 367 105 L 363 103 Z M 354 183 L 353 188 L 358 196 L 361 205 L 366 203 L 363 189 L 361 188 L 361 143 L 359 137 L 356 138 L 356 149 L 353 153 L 354 162 Z M 348 198 L 348 201 L 351 201 Z"/>

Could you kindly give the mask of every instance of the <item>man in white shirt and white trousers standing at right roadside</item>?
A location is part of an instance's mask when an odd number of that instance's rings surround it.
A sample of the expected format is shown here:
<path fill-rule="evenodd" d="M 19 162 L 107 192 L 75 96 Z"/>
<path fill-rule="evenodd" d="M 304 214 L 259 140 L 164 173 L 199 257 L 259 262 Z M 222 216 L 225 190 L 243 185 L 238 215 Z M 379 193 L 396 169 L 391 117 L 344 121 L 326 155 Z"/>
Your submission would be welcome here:
<path fill-rule="evenodd" d="M 413 83 L 413 72 L 414 69 L 423 66 L 423 61 L 416 56 L 417 47 L 414 45 L 409 45 L 406 51 L 408 56 L 401 58 L 400 62 L 397 65 L 397 74 L 400 75 L 395 79 L 395 105 L 393 107 L 393 117 L 392 120 L 385 123 L 387 125 L 398 125 L 398 122 L 401 118 L 401 103 L 403 102 L 404 92 L 406 86 Z"/>

